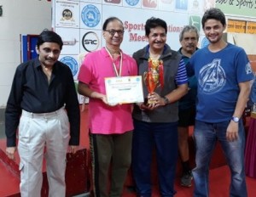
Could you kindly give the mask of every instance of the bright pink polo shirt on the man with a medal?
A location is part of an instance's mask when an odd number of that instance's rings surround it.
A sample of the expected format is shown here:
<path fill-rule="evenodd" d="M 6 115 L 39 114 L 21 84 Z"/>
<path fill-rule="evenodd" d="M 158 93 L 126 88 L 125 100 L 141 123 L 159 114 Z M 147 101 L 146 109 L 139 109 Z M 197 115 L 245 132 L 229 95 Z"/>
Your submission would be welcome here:
<path fill-rule="evenodd" d="M 119 66 L 120 58 L 115 60 Z M 119 68 L 118 68 L 119 69 Z M 79 82 L 89 85 L 90 89 L 106 94 L 105 77 L 114 77 L 113 60 L 105 48 L 88 53 L 79 70 Z M 129 55 L 123 53 L 121 76 L 137 76 L 137 63 Z M 108 106 L 102 100 L 90 98 L 89 128 L 91 133 L 114 134 L 133 130 L 131 104 Z"/>

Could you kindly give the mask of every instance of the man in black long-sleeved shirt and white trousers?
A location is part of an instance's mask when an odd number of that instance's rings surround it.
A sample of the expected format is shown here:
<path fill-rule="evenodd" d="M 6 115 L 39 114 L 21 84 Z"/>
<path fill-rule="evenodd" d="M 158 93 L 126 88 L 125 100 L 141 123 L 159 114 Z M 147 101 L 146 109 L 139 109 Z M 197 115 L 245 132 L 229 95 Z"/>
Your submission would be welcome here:
<path fill-rule="evenodd" d="M 67 148 L 69 144 L 69 151 L 75 153 L 79 145 L 80 113 L 72 72 L 58 61 L 62 45 L 55 32 L 43 31 L 38 58 L 15 71 L 5 111 L 6 153 L 15 159 L 19 127 L 21 196 L 40 196 L 44 153 L 49 196 L 66 194 Z"/>

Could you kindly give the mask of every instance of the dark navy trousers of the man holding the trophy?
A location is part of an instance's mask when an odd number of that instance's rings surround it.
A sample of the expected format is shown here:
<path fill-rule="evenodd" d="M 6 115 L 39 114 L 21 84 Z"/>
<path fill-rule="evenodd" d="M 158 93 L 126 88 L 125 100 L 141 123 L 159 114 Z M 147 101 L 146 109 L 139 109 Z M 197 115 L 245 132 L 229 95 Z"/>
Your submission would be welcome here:
<path fill-rule="evenodd" d="M 134 121 L 132 172 L 138 196 L 151 197 L 151 164 L 155 147 L 160 194 L 172 197 L 177 164 L 177 122 Z"/>

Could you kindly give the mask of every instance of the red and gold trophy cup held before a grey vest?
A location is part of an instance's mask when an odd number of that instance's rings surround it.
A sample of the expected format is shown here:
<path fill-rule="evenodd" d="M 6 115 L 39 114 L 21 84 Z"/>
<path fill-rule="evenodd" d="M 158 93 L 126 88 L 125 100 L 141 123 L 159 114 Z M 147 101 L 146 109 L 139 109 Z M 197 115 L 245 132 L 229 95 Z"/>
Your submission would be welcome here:
<path fill-rule="evenodd" d="M 148 93 L 153 93 L 157 87 L 164 87 L 163 60 L 148 59 L 148 71 L 144 72 L 143 81 L 148 88 Z M 154 101 L 148 100 L 147 104 L 154 104 Z"/>

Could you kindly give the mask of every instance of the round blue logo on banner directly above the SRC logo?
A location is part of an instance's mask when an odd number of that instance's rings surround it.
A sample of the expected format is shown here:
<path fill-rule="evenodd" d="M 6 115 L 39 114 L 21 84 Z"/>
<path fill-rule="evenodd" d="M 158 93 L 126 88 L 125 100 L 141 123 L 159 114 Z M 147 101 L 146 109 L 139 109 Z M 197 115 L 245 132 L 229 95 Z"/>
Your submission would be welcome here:
<path fill-rule="evenodd" d="M 84 25 L 95 27 L 101 20 L 101 14 L 96 6 L 89 4 L 83 8 L 81 18 L 84 22 Z"/>

